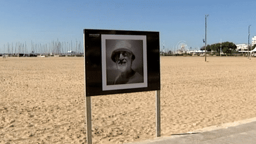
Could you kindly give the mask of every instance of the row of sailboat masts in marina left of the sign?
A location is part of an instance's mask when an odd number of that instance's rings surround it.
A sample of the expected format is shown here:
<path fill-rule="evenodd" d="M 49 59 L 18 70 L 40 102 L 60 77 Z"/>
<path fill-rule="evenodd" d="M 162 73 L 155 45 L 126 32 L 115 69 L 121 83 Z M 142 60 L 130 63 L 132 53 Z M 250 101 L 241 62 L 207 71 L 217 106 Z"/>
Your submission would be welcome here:
<path fill-rule="evenodd" d="M 84 46 L 81 41 L 59 41 L 52 40 L 49 43 L 36 43 L 31 40 L 28 46 L 27 41 L 3 44 L 0 56 L 84 56 Z"/>

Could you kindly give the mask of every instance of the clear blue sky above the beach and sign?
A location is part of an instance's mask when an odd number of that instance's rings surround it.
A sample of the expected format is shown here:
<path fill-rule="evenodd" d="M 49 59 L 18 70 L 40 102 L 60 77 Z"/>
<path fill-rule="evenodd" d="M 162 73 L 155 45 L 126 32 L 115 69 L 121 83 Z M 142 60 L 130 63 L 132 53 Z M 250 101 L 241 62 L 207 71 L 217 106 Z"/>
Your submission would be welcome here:
<path fill-rule="evenodd" d="M 49 44 L 53 40 L 83 43 L 84 28 L 159 31 L 160 47 L 172 50 L 179 41 L 207 44 L 248 43 L 256 36 L 255 1 L 0 1 L 0 53 L 7 44 Z"/>

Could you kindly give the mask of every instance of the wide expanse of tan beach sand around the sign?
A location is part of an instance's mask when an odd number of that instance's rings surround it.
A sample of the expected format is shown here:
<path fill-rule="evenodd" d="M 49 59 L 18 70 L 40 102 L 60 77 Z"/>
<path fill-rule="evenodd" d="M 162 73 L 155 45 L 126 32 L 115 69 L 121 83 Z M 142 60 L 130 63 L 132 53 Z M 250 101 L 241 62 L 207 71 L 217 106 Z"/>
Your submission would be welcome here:
<path fill-rule="evenodd" d="M 161 57 L 161 136 L 256 117 L 256 58 Z M 156 137 L 155 91 L 91 97 L 93 143 Z M 0 143 L 86 143 L 83 57 L 0 57 Z"/>

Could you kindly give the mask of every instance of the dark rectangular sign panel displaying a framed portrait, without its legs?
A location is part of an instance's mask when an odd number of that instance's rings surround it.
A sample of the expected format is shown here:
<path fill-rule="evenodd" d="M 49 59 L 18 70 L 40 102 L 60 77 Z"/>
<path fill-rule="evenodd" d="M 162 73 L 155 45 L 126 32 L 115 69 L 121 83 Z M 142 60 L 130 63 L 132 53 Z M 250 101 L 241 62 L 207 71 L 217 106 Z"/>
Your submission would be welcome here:
<path fill-rule="evenodd" d="M 84 30 L 88 96 L 160 90 L 159 32 Z"/>

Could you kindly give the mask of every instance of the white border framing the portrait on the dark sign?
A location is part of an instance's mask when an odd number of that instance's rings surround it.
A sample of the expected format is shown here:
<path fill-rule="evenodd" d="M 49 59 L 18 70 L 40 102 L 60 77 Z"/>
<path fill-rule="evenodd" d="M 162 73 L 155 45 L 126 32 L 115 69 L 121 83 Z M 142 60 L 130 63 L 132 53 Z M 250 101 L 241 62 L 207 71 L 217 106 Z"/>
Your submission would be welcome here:
<path fill-rule="evenodd" d="M 106 62 L 106 40 L 142 40 L 143 41 L 143 82 L 136 84 L 107 85 L 107 62 Z M 119 35 L 119 34 L 101 34 L 101 62 L 102 62 L 102 88 L 103 91 L 117 89 L 132 89 L 148 87 L 148 68 L 147 68 L 147 51 L 146 36 L 144 35 Z"/>

